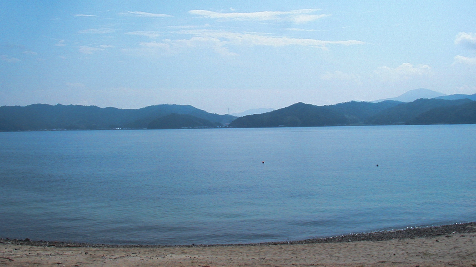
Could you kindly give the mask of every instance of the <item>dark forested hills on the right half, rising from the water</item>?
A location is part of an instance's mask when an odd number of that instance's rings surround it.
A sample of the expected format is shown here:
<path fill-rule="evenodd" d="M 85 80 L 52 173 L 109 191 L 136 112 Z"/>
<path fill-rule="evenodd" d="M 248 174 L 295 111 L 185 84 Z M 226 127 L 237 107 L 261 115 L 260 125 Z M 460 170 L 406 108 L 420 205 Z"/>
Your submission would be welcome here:
<path fill-rule="evenodd" d="M 470 99 L 417 99 L 346 102 L 316 106 L 297 103 L 263 114 L 239 117 L 229 127 L 300 127 L 395 124 L 474 124 L 476 102 Z"/>

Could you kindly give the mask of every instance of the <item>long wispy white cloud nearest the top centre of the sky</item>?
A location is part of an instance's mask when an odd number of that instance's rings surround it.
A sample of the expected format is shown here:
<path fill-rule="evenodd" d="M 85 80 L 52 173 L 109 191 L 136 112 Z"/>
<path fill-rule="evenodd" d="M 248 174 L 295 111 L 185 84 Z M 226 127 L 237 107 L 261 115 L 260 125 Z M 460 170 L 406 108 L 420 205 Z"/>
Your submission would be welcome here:
<path fill-rule="evenodd" d="M 330 14 L 313 14 L 320 9 L 303 9 L 292 11 L 260 11 L 250 13 L 222 13 L 208 10 L 190 10 L 188 13 L 192 15 L 198 15 L 202 18 L 210 19 L 227 19 L 227 20 L 278 20 L 278 21 L 292 21 L 294 23 L 306 23 L 315 21 L 324 17 L 330 16 Z"/>

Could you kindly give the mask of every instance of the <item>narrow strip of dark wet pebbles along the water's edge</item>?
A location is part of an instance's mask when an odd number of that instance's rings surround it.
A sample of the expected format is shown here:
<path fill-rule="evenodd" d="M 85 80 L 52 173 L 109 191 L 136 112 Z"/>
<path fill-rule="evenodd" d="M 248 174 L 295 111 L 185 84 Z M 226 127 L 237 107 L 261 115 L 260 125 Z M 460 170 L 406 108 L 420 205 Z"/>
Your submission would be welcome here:
<path fill-rule="evenodd" d="M 43 241 L 25 239 L 0 238 L 0 244 L 24 245 L 34 247 L 57 247 L 57 248 L 190 248 L 190 247 L 245 247 L 245 246 L 269 246 L 269 245 L 304 245 L 321 243 L 345 243 L 356 241 L 385 241 L 391 239 L 429 238 L 448 234 L 476 232 L 476 221 L 466 223 L 454 223 L 441 226 L 409 227 L 406 229 L 394 229 L 386 231 L 373 231 L 367 233 L 351 233 L 335 237 L 309 238 L 296 241 L 276 241 L 248 244 L 210 244 L 210 245 L 123 245 L 123 244 L 91 244 L 61 241 Z"/>

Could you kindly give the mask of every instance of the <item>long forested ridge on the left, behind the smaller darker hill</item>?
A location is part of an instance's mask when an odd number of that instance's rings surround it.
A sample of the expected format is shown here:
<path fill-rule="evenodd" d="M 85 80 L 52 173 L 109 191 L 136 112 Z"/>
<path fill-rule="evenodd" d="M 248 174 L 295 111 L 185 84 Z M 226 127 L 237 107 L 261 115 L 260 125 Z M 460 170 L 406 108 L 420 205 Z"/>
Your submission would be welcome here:
<path fill-rule="evenodd" d="M 140 109 L 119 109 L 84 105 L 34 104 L 1 106 L 0 131 L 148 128 L 152 121 L 170 114 L 188 114 L 201 120 L 192 117 L 178 117 L 177 119 L 193 119 L 207 125 L 228 124 L 236 118 L 228 114 L 208 113 L 191 105 L 164 104 Z M 167 128 L 163 124 L 160 127 Z M 173 126 L 169 128 L 173 128 Z"/>

